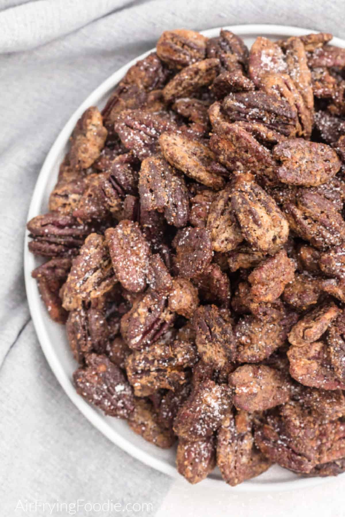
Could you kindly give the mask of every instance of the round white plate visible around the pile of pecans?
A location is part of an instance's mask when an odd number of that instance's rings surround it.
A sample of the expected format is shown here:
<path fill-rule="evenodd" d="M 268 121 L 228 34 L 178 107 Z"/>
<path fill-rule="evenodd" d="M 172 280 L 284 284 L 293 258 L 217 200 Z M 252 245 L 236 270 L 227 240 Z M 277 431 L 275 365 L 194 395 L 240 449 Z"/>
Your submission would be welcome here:
<path fill-rule="evenodd" d="M 242 36 L 247 46 L 250 48 L 251 44 L 257 36 L 266 36 L 272 40 L 298 36 L 302 34 L 309 34 L 312 31 L 298 27 L 284 27 L 282 25 L 237 25 L 231 27 L 223 27 L 233 31 L 235 34 Z M 209 29 L 202 34 L 208 37 L 218 36 L 220 27 Z M 338 47 L 345 47 L 345 41 L 334 38 L 333 44 Z M 153 49 L 154 50 L 154 49 Z M 49 193 L 53 189 L 58 167 L 64 158 L 67 150 L 67 143 L 69 136 L 76 125 L 77 120 L 82 113 L 92 105 L 97 105 L 102 109 L 106 103 L 107 98 L 112 92 L 113 87 L 124 77 L 125 73 L 138 59 L 152 52 L 146 52 L 138 56 L 136 59 L 128 63 L 128 65 L 120 68 L 113 73 L 106 81 L 104 81 L 94 92 L 87 97 L 76 112 L 68 120 L 66 126 L 55 140 L 50 149 L 46 160 L 43 163 L 41 172 L 38 176 L 36 187 L 33 193 L 31 205 L 29 208 L 27 220 L 32 219 L 38 214 L 44 214 L 48 211 Z M 48 316 L 46 308 L 40 299 L 37 284 L 31 278 L 31 271 L 41 264 L 41 260 L 35 257 L 27 249 L 28 235 L 25 235 L 24 247 L 24 272 L 26 293 L 31 311 L 32 319 L 35 325 L 37 336 L 44 355 L 50 364 L 51 369 L 55 373 L 59 383 L 66 391 L 71 401 L 81 410 L 83 415 L 95 425 L 99 431 L 106 435 L 114 444 L 124 449 L 134 458 L 146 463 L 147 465 L 160 470 L 165 474 L 169 474 L 174 478 L 181 478 L 176 472 L 175 468 L 175 450 L 163 450 L 151 445 L 141 436 L 134 434 L 126 422 L 104 416 L 98 409 L 89 405 L 83 400 L 74 390 L 71 382 L 72 373 L 77 367 L 70 352 L 69 345 L 66 339 L 65 329 L 62 325 L 52 322 Z M 252 480 L 246 481 L 234 488 L 229 487 L 221 480 L 218 469 L 208 476 L 202 482 L 203 487 L 206 488 L 221 488 L 222 486 L 227 490 L 246 491 L 246 492 L 262 492 L 262 491 L 278 491 L 291 490 L 296 488 L 304 488 L 323 483 L 329 478 L 301 478 L 293 474 L 289 470 L 280 468 L 278 466 L 271 467 L 266 473 Z"/>

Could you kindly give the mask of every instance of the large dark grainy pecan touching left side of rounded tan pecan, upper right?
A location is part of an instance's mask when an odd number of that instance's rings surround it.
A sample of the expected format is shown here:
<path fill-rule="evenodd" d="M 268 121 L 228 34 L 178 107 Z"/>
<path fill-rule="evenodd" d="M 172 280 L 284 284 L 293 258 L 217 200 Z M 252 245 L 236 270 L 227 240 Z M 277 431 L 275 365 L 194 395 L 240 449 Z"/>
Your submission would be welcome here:
<path fill-rule="evenodd" d="M 249 171 L 276 183 L 276 161 L 240 123 L 223 123 L 212 134 L 209 146 L 217 159 L 232 171 Z"/>

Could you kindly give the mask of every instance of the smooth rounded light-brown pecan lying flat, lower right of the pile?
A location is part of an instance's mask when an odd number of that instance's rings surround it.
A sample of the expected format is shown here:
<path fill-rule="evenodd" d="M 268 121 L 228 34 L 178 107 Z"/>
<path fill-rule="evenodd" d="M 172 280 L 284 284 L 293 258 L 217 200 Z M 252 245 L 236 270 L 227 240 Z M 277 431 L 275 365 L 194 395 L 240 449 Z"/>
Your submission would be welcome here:
<path fill-rule="evenodd" d="M 233 403 L 250 413 L 265 411 L 288 402 L 291 383 L 284 372 L 261 364 L 245 364 L 229 375 L 234 386 Z"/>

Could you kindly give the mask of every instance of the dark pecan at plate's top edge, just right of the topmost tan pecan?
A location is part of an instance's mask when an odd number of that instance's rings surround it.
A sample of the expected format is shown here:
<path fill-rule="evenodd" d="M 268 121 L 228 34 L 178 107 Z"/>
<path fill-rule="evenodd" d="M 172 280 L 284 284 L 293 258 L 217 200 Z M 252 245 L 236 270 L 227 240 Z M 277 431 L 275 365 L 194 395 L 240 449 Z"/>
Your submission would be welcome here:
<path fill-rule="evenodd" d="M 207 57 L 219 59 L 226 70 L 247 68 L 248 49 L 243 39 L 231 31 L 221 29 L 219 36 L 210 38 L 206 43 L 206 52 Z"/>

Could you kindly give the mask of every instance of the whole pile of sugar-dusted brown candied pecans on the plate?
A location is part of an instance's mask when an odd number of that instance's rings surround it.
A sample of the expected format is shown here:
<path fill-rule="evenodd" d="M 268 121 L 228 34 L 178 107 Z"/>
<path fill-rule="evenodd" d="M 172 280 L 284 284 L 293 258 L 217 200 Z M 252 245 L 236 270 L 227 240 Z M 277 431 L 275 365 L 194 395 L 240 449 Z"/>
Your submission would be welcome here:
<path fill-rule="evenodd" d="M 78 393 L 189 482 L 345 470 L 345 50 L 164 32 L 29 221 Z"/>

